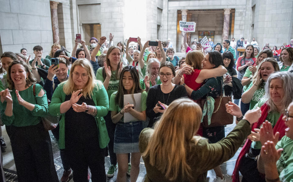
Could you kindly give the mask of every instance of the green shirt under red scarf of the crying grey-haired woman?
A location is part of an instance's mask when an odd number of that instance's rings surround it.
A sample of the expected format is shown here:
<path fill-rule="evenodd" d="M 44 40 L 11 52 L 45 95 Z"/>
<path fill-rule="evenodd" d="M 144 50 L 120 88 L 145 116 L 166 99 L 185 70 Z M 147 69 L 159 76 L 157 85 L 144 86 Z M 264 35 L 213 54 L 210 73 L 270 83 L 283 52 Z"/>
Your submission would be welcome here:
<path fill-rule="evenodd" d="M 253 109 L 255 109 L 256 107 L 261 107 L 265 102 L 266 102 L 267 99 L 261 99 L 259 100 L 259 102 L 257 104 L 255 104 L 255 106 L 253 107 Z M 280 118 L 280 113 L 278 112 L 269 112 L 268 113 L 268 116 L 266 117 L 266 120 L 268 120 L 271 124 L 272 124 L 272 127 L 274 127 L 277 123 L 277 121 L 279 120 Z M 259 128 L 261 128 L 261 126 L 259 126 Z M 251 147 L 254 148 L 254 149 L 261 149 L 262 148 L 262 144 L 260 143 L 260 141 L 258 142 L 252 142 L 251 143 Z"/>

